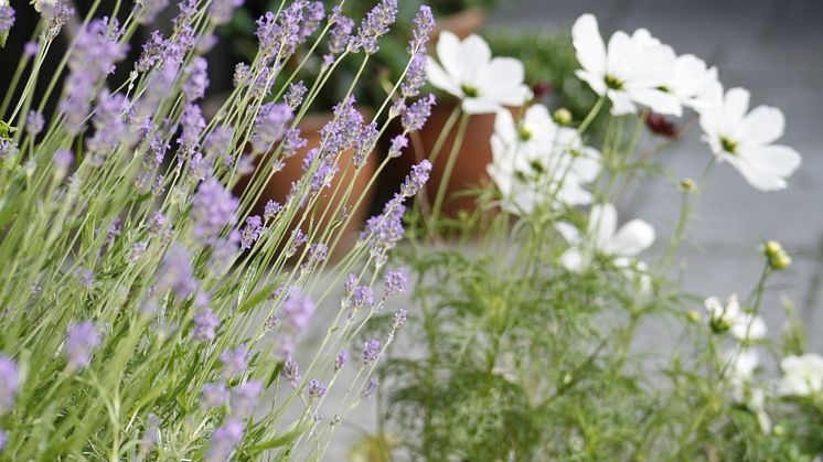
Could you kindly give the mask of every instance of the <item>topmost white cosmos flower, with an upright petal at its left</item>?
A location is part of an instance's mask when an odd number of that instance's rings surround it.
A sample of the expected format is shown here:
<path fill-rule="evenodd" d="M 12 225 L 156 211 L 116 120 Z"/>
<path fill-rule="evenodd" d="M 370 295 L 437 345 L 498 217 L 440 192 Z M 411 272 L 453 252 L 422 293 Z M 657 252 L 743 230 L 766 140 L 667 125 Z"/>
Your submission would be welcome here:
<path fill-rule="evenodd" d="M 607 47 L 597 19 L 584 14 L 575 21 L 571 39 L 582 66 L 576 75 L 598 95 L 608 96 L 611 114 L 633 114 L 635 104 L 660 114 L 683 112 L 677 97 L 663 90 L 674 73 L 674 51 L 645 29 L 638 29 L 631 36 L 614 32 Z"/>

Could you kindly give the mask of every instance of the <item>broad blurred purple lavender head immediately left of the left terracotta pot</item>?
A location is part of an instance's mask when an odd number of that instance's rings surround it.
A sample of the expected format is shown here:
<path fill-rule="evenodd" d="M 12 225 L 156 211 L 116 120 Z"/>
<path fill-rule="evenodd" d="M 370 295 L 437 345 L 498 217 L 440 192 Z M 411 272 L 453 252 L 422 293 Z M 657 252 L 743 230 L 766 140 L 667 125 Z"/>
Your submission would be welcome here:
<path fill-rule="evenodd" d="M 197 193 L 192 197 L 194 236 L 213 236 L 224 226 L 234 223 L 238 204 L 217 179 L 211 178 L 201 183 Z"/>

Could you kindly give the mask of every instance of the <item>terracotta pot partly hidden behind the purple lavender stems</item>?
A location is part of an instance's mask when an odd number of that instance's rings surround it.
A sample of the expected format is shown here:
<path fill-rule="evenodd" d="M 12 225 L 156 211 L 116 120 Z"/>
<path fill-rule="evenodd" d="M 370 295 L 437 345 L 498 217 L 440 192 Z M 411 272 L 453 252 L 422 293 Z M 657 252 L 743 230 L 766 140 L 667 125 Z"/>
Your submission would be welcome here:
<path fill-rule="evenodd" d="M 298 181 L 303 174 L 302 164 L 309 151 L 320 147 L 320 143 L 322 141 L 320 129 L 323 127 L 323 125 L 325 125 L 325 122 L 331 120 L 331 114 L 314 114 L 303 117 L 303 119 L 298 123 L 301 136 L 307 140 L 306 147 L 300 149 L 293 157 L 287 159 L 285 161 L 284 169 L 275 173 L 269 182 L 264 185 L 260 197 L 255 203 L 252 209 L 253 215 L 263 215 L 264 208 L 268 201 L 276 201 L 279 203 L 284 203 L 286 201 L 292 182 Z M 360 232 L 363 223 L 365 222 L 366 214 L 368 213 L 374 195 L 373 189 L 366 190 L 366 186 L 371 178 L 374 176 L 377 169 L 378 162 L 375 152 L 371 152 L 366 159 L 366 163 L 356 171 L 351 165 L 352 154 L 352 150 L 343 152 L 339 165 L 339 173 L 332 180 L 331 186 L 323 189 L 323 191 L 320 193 L 321 196 L 317 201 L 318 205 L 312 212 L 312 214 L 314 214 L 316 216 L 316 223 L 319 226 L 329 226 L 334 218 L 334 216 L 331 216 L 333 215 L 332 212 L 342 204 L 345 191 L 349 189 L 350 185 L 352 185 L 351 194 L 345 202 L 345 205 L 350 208 L 351 218 L 349 221 L 349 224 L 344 228 L 332 233 L 332 241 L 336 236 L 340 235 L 340 233 L 343 234 L 340 243 L 338 244 L 331 256 L 332 258 L 341 257 L 349 249 L 351 249 L 356 238 L 356 234 Z M 265 163 L 264 159 L 267 158 L 260 158 L 257 163 Z M 243 189 L 247 186 L 248 180 L 249 179 L 246 178 L 238 182 L 237 189 L 239 189 L 239 191 L 243 191 Z M 355 208 L 354 205 L 361 194 L 365 195 L 360 205 Z M 325 217 L 320 219 L 327 208 L 327 205 L 329 206 L 330 212 L 327 214 Z M 306 232 L 308 232 L 308 218 L 304 219 L 303 225 L 301 226 Z M 296 226 L 297 221 L 292 224 L 292 229 Z"/>

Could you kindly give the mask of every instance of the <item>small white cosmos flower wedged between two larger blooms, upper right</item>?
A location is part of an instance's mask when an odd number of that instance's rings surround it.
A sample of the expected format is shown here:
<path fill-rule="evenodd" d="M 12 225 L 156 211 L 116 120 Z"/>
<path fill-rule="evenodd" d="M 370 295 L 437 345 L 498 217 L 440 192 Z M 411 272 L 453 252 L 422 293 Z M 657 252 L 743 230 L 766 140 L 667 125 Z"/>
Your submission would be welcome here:
<path fill-rule="evenodd" d="M 716 67 L 707 67 L 699 57 L 684 54 L 677 56 L 674 72 L 663 87 L 683 106 L 701 110 L 708 105 L 705 97 L 717 82 Z"/>

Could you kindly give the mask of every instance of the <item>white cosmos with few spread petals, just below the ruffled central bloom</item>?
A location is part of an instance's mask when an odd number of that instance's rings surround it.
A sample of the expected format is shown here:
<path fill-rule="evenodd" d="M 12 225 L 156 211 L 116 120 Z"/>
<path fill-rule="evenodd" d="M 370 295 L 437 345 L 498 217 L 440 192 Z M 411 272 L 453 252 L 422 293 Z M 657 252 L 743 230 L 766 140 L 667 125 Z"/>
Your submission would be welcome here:
<path fill-rule="evenodd" d="M 582 235 L 568 223 L 555 225 L 557 230 L 571 245 L 560 257 L 569 271 L 580 271 L 591 262 L 591 250 L 616 257 L 618 267 L 631 267 L 635 256 L 654 243 L 654 228 L 642 219 L 632 219 L 617 228 L 617 209 L 612 204 L 597 204 L 591 207 L 587 235 Z M 587 238 L 590 241 L 587 241 Z M 594 247 L 590 248 L 587 244 Z M 642 270 L 643 266 L 635 269 Z"/>

